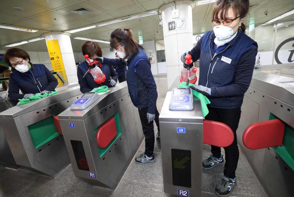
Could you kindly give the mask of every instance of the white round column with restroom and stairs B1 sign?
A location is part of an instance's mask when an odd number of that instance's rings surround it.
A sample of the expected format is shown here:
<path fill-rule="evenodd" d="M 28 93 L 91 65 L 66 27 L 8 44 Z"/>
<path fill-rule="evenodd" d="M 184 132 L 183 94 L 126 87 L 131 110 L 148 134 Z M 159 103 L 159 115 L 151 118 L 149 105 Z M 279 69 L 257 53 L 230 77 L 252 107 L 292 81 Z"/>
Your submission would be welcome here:
<path fill-rule="evenodd" d="M 179 17 L 172 18 L 175 4 L 179 10 Z M 193 48 L 192 8 L 194 6 L 194 2 L 186 0 L 166 4 L 159 9 L 163 23 L 168 88 L 180 75 L 183 67 L 180 55 Z"/>

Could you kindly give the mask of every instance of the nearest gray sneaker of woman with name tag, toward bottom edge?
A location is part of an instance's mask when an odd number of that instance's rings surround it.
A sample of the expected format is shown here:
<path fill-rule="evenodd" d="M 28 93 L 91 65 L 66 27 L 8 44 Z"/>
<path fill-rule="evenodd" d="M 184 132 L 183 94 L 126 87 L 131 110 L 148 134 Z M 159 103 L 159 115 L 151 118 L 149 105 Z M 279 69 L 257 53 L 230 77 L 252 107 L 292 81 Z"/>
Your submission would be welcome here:
<path fill-rule="evenodd" d="M 233 188 L 236 185 L 236 177 L 230 179 L 226 176 L 222 176 L 220 182 L 215 187 L 215 193 L 219 196 L 228 196 L 232 192 Z"/>

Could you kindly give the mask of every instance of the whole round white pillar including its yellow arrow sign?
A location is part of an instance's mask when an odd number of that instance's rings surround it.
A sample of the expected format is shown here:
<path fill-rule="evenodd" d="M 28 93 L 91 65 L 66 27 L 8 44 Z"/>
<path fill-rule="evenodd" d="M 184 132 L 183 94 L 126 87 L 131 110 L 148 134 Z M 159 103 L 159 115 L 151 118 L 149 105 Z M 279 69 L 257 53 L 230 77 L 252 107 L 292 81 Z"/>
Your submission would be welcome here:
<path fill-rule="evenodd" d="M 70 34 L 65 32 L 50 32 L 43 34 L 43 36 L 46 39 L 53 70 L 58 71 L 69 84 L 78 82 L 77 67 L 71 46 Z"/>

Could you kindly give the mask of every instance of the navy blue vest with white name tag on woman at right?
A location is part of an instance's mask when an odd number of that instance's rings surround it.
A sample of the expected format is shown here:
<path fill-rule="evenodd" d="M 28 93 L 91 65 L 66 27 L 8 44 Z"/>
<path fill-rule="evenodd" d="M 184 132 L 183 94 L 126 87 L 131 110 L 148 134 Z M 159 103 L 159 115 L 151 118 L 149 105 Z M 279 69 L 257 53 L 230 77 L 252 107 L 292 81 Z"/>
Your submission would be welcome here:
<path fill-rule="evenodd" d="M 200 54 L 199 85 L 207 87 L 222 87 L 234 83 L 235 68 L 239 58 L 256 42 L 239 31 L 236 37 L 230 41 L 223 50 L 214 53 L 214 32 L 208 31 L 202 36 Z M 231 59 L 230 63 L 222 60 L 222 57 Z M 241 107 L 243 96 L 234 97 L 211 97 L 209 98 L 211 107 L 214 108 L 238 108 Z"/>

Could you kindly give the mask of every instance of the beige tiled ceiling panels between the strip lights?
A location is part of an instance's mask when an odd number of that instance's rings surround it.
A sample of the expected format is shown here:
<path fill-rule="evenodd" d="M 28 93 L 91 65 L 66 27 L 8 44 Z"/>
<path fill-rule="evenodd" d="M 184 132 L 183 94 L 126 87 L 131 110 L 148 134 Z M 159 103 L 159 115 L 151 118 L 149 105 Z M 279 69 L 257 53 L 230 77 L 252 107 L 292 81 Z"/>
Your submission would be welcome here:
<path fill-rule="evenodd" d="M 0 49 L 5 45 L 21 42 L 30 38 L 42 36 L 50 31 L 67 31 L 79 27 L 114 20 L 133 14 L 158 10 L 161 5 L 172 0 L 0 0 L 0 18 L 3 25 L 25 27 L 38 30 L 35 33 L 15 31 L 0 28 Z M 245 24 L 262 24 L 294 8 L 293 0 L 250 0 L 250 14 Z M 211 14 L 214 3 L 198 5 L 193 8 L 193 33 L 198 34 L 211 30 Z M 11 9 L 21 7 L 22 11 Z M 71 11 L 79 8 L 90 10 L 88 14 L 78 15 Z M 267 15 L 265 15 L 267 13 Z M 282 20 L 294 19 L 294 14 Z M 1 24 L 0 23 L 0 24 Z M 110 34 L 116 28 L 131 28 L 134 37 L 144 40 L 163 39 L 162 28 L 159 27 L 157 15 L 110 24 L 72 34 L 74 37 L 109 40 Z M 73 50 L 81 51 L 84 41 L 71 39 Z M 101 48 L 108 44 L 99 43 Z M 47 51 L 44 40 L 17 46 L 30 51 Z"/>

